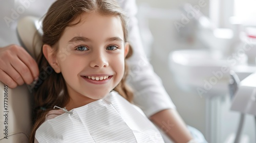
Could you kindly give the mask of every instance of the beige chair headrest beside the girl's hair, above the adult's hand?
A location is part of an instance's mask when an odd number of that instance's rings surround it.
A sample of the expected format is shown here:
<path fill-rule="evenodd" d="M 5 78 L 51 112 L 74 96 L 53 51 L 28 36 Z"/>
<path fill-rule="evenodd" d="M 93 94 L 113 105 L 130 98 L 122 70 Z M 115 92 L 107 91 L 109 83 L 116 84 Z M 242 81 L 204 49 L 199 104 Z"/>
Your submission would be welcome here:
<path fill-rule="evenodd" d="M 20 44 L 36 59 L 42 47 L 40 18 L 26 16 L 20 19 L 17 24 L 17 36 Z"/>

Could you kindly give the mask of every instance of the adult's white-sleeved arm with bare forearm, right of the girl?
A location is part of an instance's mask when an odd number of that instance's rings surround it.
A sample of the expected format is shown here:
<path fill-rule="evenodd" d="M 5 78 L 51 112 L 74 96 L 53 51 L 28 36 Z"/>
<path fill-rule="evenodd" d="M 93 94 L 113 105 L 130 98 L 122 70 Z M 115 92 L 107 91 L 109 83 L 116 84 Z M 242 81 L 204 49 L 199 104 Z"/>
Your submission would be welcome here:
<path fill-rule="evenodd" d="M 127 81 L 135 90 L 134 103 L 174 141 L 188 142 L 192 137 L 185 123 L 165 91 L 161 79 L 146 60 L 136 18 L 136 2 L 135 0 L 120 0 L 119 2 L 130 18 L 129 42 L 133 46 L 134 53 L 128 61 L 130 75 Z"/>

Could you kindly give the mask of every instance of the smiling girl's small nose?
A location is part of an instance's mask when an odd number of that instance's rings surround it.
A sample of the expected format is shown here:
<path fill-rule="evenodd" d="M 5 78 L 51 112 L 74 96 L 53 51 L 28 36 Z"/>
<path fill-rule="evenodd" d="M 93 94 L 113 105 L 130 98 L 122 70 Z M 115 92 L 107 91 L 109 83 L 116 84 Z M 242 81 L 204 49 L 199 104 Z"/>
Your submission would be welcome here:
<path fill-rule="evenodd" d="M 92 56 L 90 66 L 93 68 L 108 67 L 109 62 L 104 54 L 97 53 Z"/>

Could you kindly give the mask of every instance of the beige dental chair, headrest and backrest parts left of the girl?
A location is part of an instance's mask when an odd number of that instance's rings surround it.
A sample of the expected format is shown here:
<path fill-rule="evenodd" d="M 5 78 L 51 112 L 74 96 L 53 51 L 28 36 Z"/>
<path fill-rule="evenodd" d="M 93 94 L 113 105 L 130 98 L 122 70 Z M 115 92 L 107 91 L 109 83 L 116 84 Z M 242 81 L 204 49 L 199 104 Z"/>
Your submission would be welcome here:
<path fill-rule="evenodd" d="M 41 42 L 38 42 L 41 35 L 39 23 L 38 18 L 24 17 L 17 25 L 19 41 L 33 58 L 41 49 Z M 33 103 L 31 91 L 30 85 L 11 89 L 0 82 L 0 143 L 29 142 Z"/>

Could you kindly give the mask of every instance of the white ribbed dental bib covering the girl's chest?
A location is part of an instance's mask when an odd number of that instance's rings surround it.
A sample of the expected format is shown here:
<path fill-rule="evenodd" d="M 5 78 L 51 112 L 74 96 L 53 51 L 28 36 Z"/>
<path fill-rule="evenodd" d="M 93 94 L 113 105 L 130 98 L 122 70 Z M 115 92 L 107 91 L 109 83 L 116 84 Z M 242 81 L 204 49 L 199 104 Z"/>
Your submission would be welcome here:
<path fill-rule="evenodd" d="M 43 123 L 37 141 L 164 142 L 158 129 L 115 91 L 71 112 Z"/>

